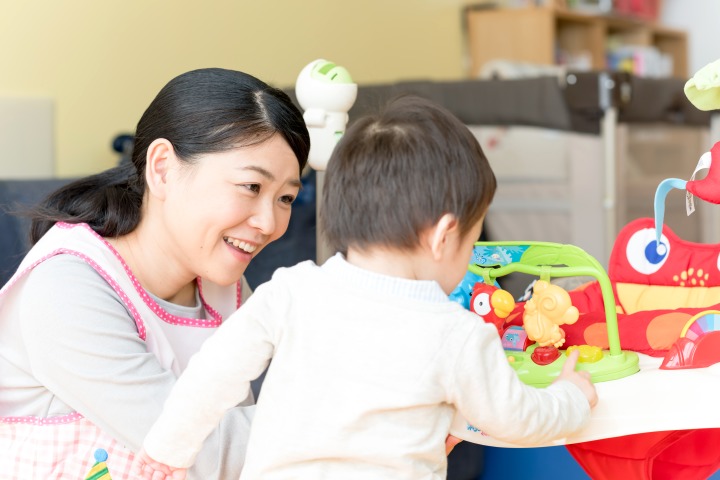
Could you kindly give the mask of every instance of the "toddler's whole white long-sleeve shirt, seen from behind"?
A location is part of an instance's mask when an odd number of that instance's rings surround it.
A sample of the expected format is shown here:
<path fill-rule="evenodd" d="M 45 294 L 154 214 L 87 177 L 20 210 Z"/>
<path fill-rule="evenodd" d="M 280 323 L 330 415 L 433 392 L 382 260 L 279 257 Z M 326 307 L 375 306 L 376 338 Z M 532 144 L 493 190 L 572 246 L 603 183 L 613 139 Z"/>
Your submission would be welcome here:
<path fill-rule="evenodd" d="M 569 382 L 523 384 L 497 332 L 431 281 L 341 256 L 280 269 L 209 338 L 144 447 L 189 466 L 225 409 L 272 359 L 242 479 L 445 478 L 455 411 L 494 438 L 568 435 L 590 407 Z"/>

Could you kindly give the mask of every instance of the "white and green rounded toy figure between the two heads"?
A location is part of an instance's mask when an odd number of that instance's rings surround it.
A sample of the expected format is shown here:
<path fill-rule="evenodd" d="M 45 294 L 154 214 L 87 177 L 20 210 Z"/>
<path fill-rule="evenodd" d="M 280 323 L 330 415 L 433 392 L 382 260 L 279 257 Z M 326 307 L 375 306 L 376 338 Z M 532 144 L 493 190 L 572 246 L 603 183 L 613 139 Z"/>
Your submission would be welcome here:
<path fill-rule="evenodd" d="M 308 163 L 324 171 L 335 144 L 345 133 L 357 84 L 343 67 L 324 59 L 310 62 L 295 83 L 295 96 L 310 132 Z"/>

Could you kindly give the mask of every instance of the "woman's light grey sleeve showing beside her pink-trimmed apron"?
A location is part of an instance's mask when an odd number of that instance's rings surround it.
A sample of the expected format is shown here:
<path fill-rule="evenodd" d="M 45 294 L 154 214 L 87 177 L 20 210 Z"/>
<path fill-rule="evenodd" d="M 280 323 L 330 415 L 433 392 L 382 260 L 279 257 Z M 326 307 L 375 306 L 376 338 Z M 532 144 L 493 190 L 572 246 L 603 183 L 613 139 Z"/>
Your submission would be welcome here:
<path fill-rule="evenodd" d="M 137 451 L 175 384 L 147 350 L 118 295 L 75 257 L 51 258 L 23 285 L 31 374 L 52 392 L 48 414 L 75 410 Z M 191 479 L 237 478 L 254 407 L 233 408 L 207 439 Z"/>

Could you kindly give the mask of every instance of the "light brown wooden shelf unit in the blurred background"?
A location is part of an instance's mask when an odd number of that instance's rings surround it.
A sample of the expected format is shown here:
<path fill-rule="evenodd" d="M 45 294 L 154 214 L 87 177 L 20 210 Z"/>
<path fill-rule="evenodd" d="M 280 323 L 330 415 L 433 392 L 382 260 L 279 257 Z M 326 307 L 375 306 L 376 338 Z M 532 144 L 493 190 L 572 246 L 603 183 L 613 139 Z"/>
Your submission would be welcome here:
<path fill-rule="evenodd" d="M 686 32 L 654 22 L 552 6 L 468 6 L 464 22 L 472 78 L 494 60 L 558 65 L 572 58 L 573 69 L 580 61 L 587 70 L 606 70 L 609 44 L 655 47 L 671 59 L 672 76 L 688 74 Z"/>

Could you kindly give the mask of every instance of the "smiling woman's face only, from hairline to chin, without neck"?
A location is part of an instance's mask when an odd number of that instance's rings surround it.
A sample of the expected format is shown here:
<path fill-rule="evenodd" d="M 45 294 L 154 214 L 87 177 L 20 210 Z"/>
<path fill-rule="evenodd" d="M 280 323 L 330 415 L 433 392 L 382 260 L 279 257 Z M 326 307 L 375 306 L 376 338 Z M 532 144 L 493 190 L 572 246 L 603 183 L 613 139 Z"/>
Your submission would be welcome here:
<path fill-rule="evenodd" d="M 168 177 L 169 247 L 189 276 L 220 285 L 238 281 L 250 260 L 285 233 L 300 190 L 298 160 L 279 135 L 207 154 Z"/>

